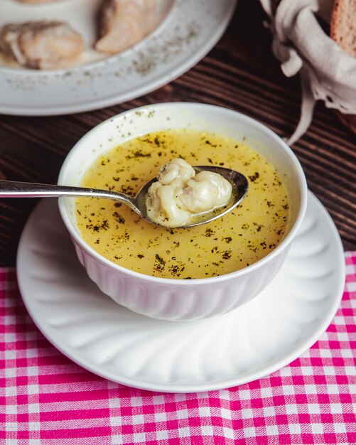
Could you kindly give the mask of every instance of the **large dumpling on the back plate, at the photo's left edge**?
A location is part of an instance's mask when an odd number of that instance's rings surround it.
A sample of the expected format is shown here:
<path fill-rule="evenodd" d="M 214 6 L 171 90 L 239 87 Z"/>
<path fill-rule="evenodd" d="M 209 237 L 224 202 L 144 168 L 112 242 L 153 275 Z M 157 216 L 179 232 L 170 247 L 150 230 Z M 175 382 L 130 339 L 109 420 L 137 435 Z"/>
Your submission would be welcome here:
<path fill-rule="evenodd" d="M 28 21 L 0 28 L 0 52 L 27 68 L 66 68 L 82 50 L 82 36 L 68 23 Z"/>

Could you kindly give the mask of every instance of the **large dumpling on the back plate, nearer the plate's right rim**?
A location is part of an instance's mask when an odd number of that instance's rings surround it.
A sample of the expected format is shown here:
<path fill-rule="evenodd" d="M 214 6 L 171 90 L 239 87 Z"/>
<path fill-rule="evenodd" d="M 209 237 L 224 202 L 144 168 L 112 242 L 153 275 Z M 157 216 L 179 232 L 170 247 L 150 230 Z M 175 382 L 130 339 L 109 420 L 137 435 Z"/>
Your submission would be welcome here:
<path fill-rule="evenodd" d="M 95 49 L 116 54 L 142 40 L 158 25 L 156 0 L 104 0 Z"/>

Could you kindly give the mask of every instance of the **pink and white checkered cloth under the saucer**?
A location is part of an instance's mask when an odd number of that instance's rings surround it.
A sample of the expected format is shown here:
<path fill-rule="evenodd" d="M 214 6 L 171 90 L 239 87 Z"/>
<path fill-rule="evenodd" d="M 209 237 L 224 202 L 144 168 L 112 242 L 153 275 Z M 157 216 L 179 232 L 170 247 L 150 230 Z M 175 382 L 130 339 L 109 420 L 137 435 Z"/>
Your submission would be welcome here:
<path fill-rule="evenodd" d="M 109 382 L 38 331 L 14 269 L 0 269 L 0 444 L 356 444 L 356 252 L 333 323 L 261 380 L 199 394 Z"/>

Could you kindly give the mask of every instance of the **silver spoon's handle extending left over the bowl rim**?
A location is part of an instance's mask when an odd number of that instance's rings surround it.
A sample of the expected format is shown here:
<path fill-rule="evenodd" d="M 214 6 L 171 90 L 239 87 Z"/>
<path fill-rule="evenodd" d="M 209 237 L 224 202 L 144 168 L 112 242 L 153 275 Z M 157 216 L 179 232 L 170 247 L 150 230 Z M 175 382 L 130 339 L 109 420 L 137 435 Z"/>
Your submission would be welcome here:
<path fill-rule="evenodd" d="M 0 181 L 0 198 L 59 198 L 60 196 L 89 196 L 92 198 L 109 198 L 122 201 L 136 212 L 134 200 L 123 193 L 72 186 L 38 184 L 21 181 Z"/>

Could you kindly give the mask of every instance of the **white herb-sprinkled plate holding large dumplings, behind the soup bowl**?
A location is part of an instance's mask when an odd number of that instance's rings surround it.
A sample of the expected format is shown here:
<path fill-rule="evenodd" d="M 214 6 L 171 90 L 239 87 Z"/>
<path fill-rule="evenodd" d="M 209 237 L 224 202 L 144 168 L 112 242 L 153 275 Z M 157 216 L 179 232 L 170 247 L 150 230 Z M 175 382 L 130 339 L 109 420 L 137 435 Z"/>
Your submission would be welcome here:
<path fill-rule="evenodd" d="M 161 0 L 166 18 L 119 55 L 95 61 L 94 18 L 101 0 L 61 0 L 41 6 L 0 1 L 0 26 L 35 18 L 67 21 L 85 38 L 82 65 L 38 71 L 0 63 L 0 113 L 41 116 L 84 112 L 134 99 L 189 70 L 217 43 L 236 0 Z M 89 62 L 89 63 L 88 63 Z"/>

